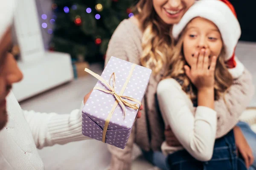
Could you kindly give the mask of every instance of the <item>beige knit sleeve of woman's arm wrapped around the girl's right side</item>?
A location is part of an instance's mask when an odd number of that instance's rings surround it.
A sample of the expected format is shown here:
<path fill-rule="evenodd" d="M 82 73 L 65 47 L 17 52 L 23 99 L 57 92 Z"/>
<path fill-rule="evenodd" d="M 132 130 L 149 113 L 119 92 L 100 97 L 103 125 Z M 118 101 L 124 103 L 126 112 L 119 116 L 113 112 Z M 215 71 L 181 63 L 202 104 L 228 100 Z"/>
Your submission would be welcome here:
<path fill-rule="evenodd" d="M 254 92 L 252 75 L 247 69 L 244 69 L 243 74 L 233 80 L 233 85 L 224 98 L 215 101 L 218 119 L 216 138 L 224 136 L 233 129 L 239 121 L 241 113 L 249 105 Z"/>

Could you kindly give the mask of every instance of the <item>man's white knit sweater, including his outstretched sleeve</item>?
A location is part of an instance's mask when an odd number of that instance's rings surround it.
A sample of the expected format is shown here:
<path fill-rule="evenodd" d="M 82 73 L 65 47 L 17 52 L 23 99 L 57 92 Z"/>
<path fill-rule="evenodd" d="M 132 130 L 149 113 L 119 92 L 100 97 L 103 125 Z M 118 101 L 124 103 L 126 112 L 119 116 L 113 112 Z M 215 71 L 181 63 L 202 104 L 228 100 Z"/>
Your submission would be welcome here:
<path fill-rule="evenodd" d="M 11 92 L 7 112 L 0 131 L 1 170 L 44 170 L 37 148 L 90 139 L 81 133 L 81 109 L 61 115 L 23 111 Z"/>

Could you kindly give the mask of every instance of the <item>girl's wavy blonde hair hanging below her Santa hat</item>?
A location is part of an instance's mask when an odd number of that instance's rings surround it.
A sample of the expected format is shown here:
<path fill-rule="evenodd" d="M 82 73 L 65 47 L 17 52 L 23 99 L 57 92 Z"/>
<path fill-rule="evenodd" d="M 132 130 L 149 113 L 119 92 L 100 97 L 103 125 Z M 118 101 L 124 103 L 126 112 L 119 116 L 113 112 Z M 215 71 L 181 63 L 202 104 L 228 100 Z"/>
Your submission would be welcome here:
<path fill-rule="evenodd" d="M 184 65 L 187 65 L 183 54 L 183 40 L 186 28 L 180 35 L 180 38 L 175 42 L 175 47 L 172 50 L 172 57 L 168 60 L 168 68 L 163 79 L 174 78 L 182 81 L 182 89 L 188 94 L 190 99 L 195 102 L 197 99 L 196 88 L 186 76 Z M 218 100 L 227 92 L 233 82 L 233 77 L 227 69 L 224 61 L 225 50 L 222 48 L 220 56 L 218 56 L 215 68 L 215 85 L 214 85 L 214 98 Z M 224 98 L 225 101 L 225 98 Z M 225 101 L 226 102 L 226 101 Z"/>

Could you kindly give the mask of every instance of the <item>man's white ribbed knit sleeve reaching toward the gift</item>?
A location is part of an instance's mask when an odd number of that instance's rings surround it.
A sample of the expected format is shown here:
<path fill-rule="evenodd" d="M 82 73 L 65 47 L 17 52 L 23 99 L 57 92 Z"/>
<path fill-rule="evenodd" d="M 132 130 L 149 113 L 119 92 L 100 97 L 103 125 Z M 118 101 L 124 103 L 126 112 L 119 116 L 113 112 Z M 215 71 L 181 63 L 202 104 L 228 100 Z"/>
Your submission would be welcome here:
<path fill-rule="evenodd" d="M 81 108 L 70 114 L 23 111 L 37 148 L 90 139 L 82 135 Z"/>

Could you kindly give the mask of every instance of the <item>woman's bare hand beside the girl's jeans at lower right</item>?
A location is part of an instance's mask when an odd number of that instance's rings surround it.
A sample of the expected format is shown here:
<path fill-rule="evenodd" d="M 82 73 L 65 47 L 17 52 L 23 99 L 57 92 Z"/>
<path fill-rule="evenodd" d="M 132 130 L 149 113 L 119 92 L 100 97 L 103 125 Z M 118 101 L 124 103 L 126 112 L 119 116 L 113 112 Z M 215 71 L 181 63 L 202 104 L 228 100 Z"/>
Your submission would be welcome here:
<path fill-rule="evenodd" d="M 244 138 L 244 135 L 240 127 L 236 126 L 234 127 L 233 130 L 234 130 L 234 136 L 236 141 L 236 147 L 239 153 L 241 153 L 241 156 L 244 158 L 246 167 L 249 168 L 254 161 L 253 152 L 249 144 L 247 143 L 246 139 Z"/>

